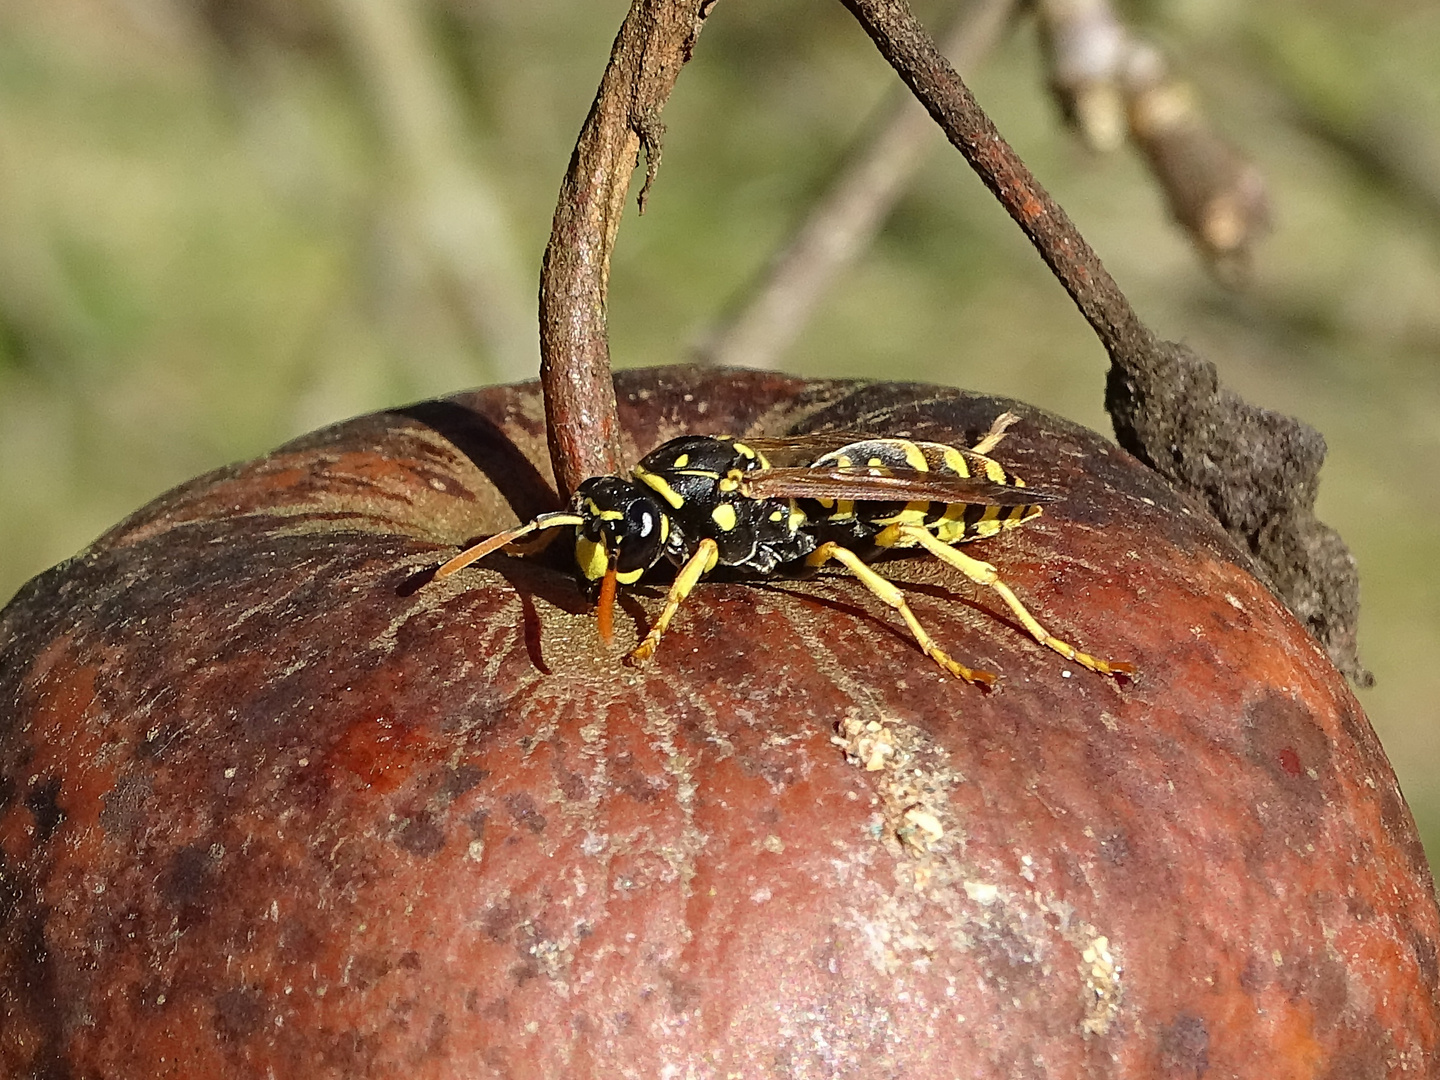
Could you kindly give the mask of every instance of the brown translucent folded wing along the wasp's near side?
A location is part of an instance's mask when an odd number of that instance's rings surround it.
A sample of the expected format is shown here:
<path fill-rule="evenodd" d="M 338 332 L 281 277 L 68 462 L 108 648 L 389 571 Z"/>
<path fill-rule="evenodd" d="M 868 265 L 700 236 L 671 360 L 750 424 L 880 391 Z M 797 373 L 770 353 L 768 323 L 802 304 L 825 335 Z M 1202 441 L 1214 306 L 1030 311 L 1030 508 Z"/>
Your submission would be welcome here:
<path fill-rule="evenodd" d="M 995 484 L 978 477 L 871 467 L 775 468 L 747 472 L 740 490 L 750 498 L 844 498 L 854 503 L 971 503 L 1028 507 L 1057 495 Z"/>

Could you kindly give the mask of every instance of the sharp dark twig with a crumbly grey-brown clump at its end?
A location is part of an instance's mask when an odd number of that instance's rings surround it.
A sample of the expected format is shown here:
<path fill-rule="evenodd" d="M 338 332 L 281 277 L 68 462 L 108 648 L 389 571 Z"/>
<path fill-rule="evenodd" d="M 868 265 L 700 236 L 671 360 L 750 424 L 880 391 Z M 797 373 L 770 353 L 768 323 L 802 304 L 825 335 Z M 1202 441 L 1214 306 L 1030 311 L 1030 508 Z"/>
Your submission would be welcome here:
<path fill-rule="evenodd" d="M 1066 287 L 1110 354 L 1106 409 L 1120 445 L 1201 500 L 1276 593 L 1358 683 L 1359 582 L 1315 517 L 1325 441 L 1220 386 L 1214 364 L 1135 314 L 1074 225 L 1035 181 L 904 0 L 842 0 Z"/>

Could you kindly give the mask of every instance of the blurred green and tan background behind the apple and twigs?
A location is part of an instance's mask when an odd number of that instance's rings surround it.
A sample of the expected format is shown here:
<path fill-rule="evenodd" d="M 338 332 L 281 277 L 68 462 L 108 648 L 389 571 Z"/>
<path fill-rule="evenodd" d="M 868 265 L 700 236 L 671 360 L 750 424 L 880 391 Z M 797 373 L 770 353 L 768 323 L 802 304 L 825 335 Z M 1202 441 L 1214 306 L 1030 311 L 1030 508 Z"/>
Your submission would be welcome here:
<path fill-rule="evenodd" d="M 530 376 L 556 189 L 626 6 L 0 0 L 0 598 L 197 472 Z M 1270 183 L 1243 288 L 1132 151 L 1063 131 L 1028 20 L 972 86 L 1158 331 L 1328 438 L 1320 517 L 1359 560 L 1378 680 L 1361 700 L 1440 852 L 1440 4 L 1123 12 Z M 621 230 L 618 364 L 687 356 L 893 84 L 838 3 L 717 6 Z M 1100 346 L 953 153 L 783 364 L 1109 432 Z"/>

